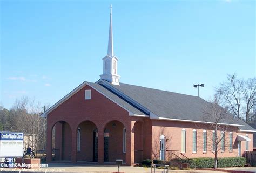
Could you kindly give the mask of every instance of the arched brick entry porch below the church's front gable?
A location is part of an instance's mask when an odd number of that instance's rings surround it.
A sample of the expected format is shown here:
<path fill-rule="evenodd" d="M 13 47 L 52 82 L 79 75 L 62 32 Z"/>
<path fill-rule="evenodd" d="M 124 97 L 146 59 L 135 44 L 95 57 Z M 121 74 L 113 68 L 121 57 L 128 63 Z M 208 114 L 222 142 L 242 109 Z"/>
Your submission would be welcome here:
<path fill-rule="evenodd" d="M 48 162 L 113 163 L 122 159 L 126 165 L 144 158 L 144 123 L 111 120 L 104 124 L 84 120 L 72 126 L 61 120 L 48 126 Z M 53 151 L 53 152 L 52 152 Z"/>

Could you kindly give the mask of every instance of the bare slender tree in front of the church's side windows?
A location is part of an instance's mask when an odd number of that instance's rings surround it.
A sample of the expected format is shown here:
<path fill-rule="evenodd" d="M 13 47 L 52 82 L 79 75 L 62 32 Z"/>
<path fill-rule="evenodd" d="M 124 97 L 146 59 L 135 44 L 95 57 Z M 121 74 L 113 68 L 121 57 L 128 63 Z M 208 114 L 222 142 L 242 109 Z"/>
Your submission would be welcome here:
<path fill-rule="evenodd" d="M 221 107 L 221 95 L 215 94 L 214 99 L 203 110 L 203 121 L 207 129 L 211 129 L 212 133 L 207 133 L 207 141 L 212 141 L 212 145 L 207 144 L 207 149 L 212 150 L 214 154 L 214 167 L 217 168 L 218 154 L 224 151 L 228 146 L 225 136 L 229 134 L 231 124 L 237 120 L 228 113 L 226 108 Z"/>

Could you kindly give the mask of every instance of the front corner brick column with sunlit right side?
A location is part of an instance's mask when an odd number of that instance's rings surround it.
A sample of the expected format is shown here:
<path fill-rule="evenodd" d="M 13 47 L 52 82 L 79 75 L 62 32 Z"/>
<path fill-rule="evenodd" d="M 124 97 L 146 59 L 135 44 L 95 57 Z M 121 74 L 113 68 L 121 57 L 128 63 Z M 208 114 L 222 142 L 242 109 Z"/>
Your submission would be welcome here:
<path fill-rule="evenodd" d="M 136 121 L 131 121 L 126 128 L 126 165 L 134 164 L 134 124 Z"/>

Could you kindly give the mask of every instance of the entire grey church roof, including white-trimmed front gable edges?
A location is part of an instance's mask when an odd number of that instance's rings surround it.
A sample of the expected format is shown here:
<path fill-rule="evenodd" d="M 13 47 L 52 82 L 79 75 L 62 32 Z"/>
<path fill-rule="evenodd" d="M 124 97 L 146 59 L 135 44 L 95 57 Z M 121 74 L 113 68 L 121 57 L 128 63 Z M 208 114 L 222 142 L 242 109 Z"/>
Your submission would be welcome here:
<path fill-rule="evenodd" d="M 131 116 L 149 116 L 151 119 L 205 123 L 205 121 L 202 121 L 204 116 L 202 110 L 210 104 L 198 96 L 123 83 L 112 85 L 105 80 L 99 80 L 96 83 L 83 82 L 83 84 L 73 89 L 72 92 L 46 110 L 41 116 L 47 116 L 52 110 L 86 85 L 89 85 L 106 96 L 106 98 L 127 110 Z M 236 119 L 233 122 L 235 123 L 230 124 L 230 121 L 221 123 L 238 126 L 241 132 L 256 132 L 255 129 L 240 119 Z"/>

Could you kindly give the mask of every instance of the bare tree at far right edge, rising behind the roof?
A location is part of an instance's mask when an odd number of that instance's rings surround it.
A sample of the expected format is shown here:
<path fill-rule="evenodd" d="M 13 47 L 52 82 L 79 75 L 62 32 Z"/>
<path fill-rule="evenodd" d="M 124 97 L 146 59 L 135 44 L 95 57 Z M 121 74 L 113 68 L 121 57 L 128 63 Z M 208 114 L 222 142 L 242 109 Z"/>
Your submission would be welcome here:
<path fill-rule="evenodd" d="M 253 113 L 252 110 L 256 106 L 256 78 L 248 79 L 245 82 L 245 86 L 242 89 L 245 102 L 245 117 L 246 123 L 252 122 Z"/>

